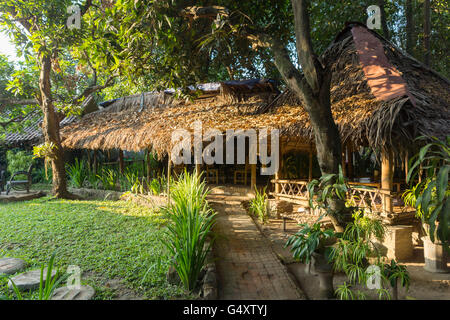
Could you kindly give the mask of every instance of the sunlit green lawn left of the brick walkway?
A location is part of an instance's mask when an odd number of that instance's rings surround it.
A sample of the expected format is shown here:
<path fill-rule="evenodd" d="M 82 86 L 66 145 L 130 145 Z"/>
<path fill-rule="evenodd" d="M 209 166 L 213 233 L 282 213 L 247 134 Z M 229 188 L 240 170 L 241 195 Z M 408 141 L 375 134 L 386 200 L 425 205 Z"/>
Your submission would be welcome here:
<path fill-rule="evenodd" d="M 123 280 L 144 298 L 170 299 L 183 291 L 165 280 L 164 223 L 158 212 L 124 201 L 46 197 L 1 204 L 0 257 L 23 258 L 31 269 L 57 250 L 57 265 L 63 270 L 78 265 L 85 272 L 82 282 L 96 289 L 96 299 L 114 296 L 105 286 L 111 279 Z"/>

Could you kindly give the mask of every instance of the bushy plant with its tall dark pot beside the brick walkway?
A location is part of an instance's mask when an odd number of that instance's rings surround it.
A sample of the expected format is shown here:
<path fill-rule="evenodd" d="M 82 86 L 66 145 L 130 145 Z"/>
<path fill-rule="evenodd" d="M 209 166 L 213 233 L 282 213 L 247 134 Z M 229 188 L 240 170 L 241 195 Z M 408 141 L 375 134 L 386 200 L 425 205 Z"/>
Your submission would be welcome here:
<path fill-rule="evenodd" d="M 318 222 L 312 226 L 300 225 L 301 229 L 291 236 L 285 247 L 290 246 L 293 257 L 310 264 L 319 276 L 319 292 L 323 299 L 334 297 L 333 264 L 330 262 L 331 245 L 334 243 L 334 230 L 322 230 Z"/>

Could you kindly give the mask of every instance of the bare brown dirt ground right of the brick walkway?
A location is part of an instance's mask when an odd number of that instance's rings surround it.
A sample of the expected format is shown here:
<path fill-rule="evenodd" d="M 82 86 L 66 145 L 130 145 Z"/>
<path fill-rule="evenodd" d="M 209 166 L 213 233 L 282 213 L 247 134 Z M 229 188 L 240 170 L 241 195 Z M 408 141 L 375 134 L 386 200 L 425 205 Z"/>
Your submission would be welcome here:
<path fill-rule="evenodd" d="M 295 277 L 297 284 L 307 295 L 309 299 L 318 299 L 317 287 L 319 280 L 317 276 L 306 273 L 306 266 L 302 263 L 294 261 L 290 251 L 284 248 L 289 236 L 298 231 L 298 225 L 295 221 L 287 221 L 286 232 L 283 231 L 283 221 L 280 219 L 270 219 L 266 225 L 255 222 L 260 231 L 270 239 L 274 251 L 279 259 L 283 261 L 291 274 Z M 415 247 L 414 256 L 408 261 L 398 261 L 406 265 L 410 274 L 411 284 L 409 290 L 399 289 L 399 299 L 418 299 L 418 300 L 450 300 L 450 273 L 431 273 L 423 269 L 424 258 L 423 248 Z M 448 264 L 450 267 L 450 263 Z M 334 275 L 334 288 L 345 281 L 348 282 L 345 274 Z M 366 293 L 368 299 L 378 299 L 376 293 L 361 286 L 355 286 Z"/>

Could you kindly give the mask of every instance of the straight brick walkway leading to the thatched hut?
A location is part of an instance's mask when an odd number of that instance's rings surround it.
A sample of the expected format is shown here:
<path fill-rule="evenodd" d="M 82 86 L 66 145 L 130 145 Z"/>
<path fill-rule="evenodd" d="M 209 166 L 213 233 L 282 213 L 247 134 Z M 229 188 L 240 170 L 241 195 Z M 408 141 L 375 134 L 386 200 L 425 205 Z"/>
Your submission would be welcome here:
<path fill-rule="evenodd" d="M 214 245 L 219 299 L 305 299 L 240 203 L 243 197 L 211 196 L 218 212 Z"/>

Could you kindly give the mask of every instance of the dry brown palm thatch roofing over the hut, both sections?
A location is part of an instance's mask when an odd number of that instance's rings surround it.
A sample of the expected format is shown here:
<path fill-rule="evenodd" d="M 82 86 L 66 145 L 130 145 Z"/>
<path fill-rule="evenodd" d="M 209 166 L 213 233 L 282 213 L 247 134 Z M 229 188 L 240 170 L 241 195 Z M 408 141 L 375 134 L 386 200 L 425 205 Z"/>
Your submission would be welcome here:
<path fill-rule="evenodd" d="M 378 56 L 370 59 L 374 53 Z M 404 150 L 418 136 L 450 134 L 449 81 L 377 33 L 349 24 L 321 59 L 331 66 L 332 113 L 344 142 Z M 222 83 L 214 94 L 207 91 L 194 101 L 175 100 L 167 92 L 116 99 L 63 128 L 63 146 L 153 149 L 164 155 L 171 150 L 172 132 L 193 131 L 196 120 L 204 132 L 276 128 L 286 139 L 314 142 L 303 101 L 289 90 L 277 94 L 273 83 L 260 81 L 253 87 Z"/>

